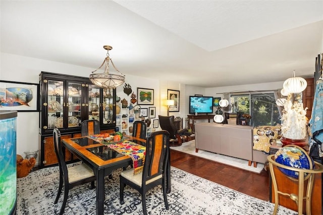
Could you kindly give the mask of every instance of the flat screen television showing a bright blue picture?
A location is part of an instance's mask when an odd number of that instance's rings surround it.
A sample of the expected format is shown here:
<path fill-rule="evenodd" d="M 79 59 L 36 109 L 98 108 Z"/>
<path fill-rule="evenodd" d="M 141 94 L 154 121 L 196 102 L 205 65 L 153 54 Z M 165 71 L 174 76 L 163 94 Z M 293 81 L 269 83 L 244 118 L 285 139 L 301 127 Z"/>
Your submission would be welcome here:
<path fill-rule="evenodd" d="M 211 96 L 190 96 L 190 114 L 213 113 L 213 97 Z"/>

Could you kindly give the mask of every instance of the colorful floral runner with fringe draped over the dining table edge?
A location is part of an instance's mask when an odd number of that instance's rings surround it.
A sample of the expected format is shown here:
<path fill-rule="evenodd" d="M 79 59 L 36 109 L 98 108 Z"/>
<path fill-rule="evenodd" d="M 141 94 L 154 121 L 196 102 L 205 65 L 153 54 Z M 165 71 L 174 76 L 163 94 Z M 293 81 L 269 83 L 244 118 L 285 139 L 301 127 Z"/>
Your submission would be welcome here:
<path fill-rule="evenodd" d="M 120 154 L 129 156 L 132 159 L 135 175 L 142 171 L 145 161 L 146 147 L 127 140 L 107 146 L 109 146 L 110 149 L 113 149 Z"/>

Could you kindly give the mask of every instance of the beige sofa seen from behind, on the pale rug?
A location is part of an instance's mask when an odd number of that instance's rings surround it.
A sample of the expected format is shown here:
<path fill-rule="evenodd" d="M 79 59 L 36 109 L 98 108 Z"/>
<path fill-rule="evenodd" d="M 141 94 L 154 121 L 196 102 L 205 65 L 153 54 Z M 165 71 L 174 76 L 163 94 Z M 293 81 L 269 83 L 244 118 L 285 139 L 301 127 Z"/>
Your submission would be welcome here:
<path fill-rule="evenodd" d="M 195 124 L 195 152 L 199 149 L 240 158 L 248 161 L 265 163 L 266 154 L 255 151 L 253 146 L 253 127 L 219 123 Z"/>

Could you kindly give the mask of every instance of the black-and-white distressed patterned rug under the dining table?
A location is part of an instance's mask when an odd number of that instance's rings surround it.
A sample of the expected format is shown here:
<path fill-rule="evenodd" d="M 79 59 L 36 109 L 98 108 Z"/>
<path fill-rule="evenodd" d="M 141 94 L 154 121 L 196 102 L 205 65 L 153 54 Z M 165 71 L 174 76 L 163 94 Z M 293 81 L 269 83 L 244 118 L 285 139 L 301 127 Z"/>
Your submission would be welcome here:
<path fill-rule="evenodd" d="M 142 214 L 141 196 L 126 186 L 125 204 L 119 203 L 119 175 L 105 178 L 104 214 Z M 58 214 L 63 196 L 54 204 L 59 186 L 58 167 L 31 172 L 17 179 L 17 214 Z M 217 183 L 171 167 L 172 191 L 168 194 L 169 210 L 166 210 L 161 187 L 151 189 L 146 195 L 148 214 L 272 214 L 274 204 L 229 189 Z M 95 214 L 95 189 L 90 184 L 74 187 L 69 192 L 65 214 Z M 297 214 L 279 206 L 278 214 Z"/>

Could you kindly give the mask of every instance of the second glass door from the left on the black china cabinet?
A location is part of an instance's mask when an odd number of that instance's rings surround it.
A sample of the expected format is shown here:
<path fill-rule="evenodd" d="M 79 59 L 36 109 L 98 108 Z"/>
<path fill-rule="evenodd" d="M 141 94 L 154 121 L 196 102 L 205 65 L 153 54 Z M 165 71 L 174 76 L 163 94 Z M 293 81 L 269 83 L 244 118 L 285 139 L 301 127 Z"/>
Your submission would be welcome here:
<path fill-rule="evenodd" d="M 80 126 L 81 122 L 81 83 L 68 83 L 66 111 L 68 115 L 68 127 Z"/>

